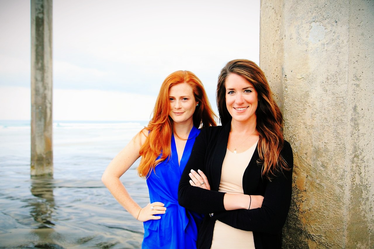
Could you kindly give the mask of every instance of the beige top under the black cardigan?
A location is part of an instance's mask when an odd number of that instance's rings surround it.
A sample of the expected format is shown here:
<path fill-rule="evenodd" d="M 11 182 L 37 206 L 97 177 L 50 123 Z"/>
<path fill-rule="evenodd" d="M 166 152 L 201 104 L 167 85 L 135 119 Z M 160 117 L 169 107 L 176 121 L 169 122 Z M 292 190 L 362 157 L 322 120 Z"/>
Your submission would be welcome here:
<path fill-rule="evenodd" d="M 243 174 L 256 149 L 257 142 L 242 153 L 234 154 L 229 149 L 226 150 L 218 191 L 228 194 L 243 194 Z M 216 221 L 211 248 L 255 248 L 253 233 Z"/>

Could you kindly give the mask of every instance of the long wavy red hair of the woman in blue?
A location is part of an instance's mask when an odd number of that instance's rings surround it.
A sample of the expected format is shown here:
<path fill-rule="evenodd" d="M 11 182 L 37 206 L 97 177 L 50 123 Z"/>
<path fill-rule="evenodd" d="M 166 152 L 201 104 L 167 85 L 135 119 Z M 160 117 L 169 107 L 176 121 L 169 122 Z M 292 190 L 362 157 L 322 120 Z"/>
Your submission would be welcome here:
<path fill-rule="evenodd" d="M 195 100 L 199 103 L 193 114 L 193 125 L 196 128 L 216 125 L 214 121 L 215 114 L 200 79 L 190 71 L 176 71 L 170 74 L 161 85 L 159 96 L 153 109 L 152 119 L 148 126 L 141 131 L 149 131 L 147 139 L 140 148 L 142 158 L 138 167 L 138 175 L 141 177 L 146 178 L 151 170 L 154 170 L 154 167 L 168 158 L 171 153 L 173 120 L 169 116 L 169 90 L 170 87 L 184 82 L 192 87 Z M 161 157 L 156 160 L 161 152 Z"/>

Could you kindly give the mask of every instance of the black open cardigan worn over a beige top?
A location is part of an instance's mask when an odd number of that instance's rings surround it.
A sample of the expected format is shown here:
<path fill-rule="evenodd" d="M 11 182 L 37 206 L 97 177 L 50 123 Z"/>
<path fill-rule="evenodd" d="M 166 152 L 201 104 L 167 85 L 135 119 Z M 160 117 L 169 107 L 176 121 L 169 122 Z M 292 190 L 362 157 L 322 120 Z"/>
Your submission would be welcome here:
<path fill-rule="evenodd" d="M 225 210 L 223 192 L 218 192 L 221 170 L 226 155 L 231 124 L 202 129 L 192 148 L 178 188 L 178 202 L 195 212 L 204 213 L 197 236 L 197 248 L 210 248 L 216 220 L 234 228 L 252 231 L 256 249 L 281 248 L 282 227 L 291 203 L 293 155 L 291 145 L 284 141 L 281 155 L 291 170 L 283 170 L 269 181 L 261 177 L 257 164 L 258 151 L 254 151 L 243 175 L 244 194 L 261 195 L 261 208 Z M 197 188 L 188 182 L 190 170 L 202 170 L 208 177 L 211 190 Z M 214 213 L 211 217 L 208 214 Z"/>

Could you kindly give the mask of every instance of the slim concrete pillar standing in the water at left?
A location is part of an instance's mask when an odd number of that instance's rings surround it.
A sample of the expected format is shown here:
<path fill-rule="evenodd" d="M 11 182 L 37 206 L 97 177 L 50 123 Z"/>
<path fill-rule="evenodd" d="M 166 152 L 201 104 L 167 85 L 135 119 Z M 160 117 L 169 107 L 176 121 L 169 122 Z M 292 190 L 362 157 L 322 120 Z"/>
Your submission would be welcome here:
<path fill-rule="evenodd" d="M 31 0 L 31 176 L 53 175 L 52 0 Z"/>

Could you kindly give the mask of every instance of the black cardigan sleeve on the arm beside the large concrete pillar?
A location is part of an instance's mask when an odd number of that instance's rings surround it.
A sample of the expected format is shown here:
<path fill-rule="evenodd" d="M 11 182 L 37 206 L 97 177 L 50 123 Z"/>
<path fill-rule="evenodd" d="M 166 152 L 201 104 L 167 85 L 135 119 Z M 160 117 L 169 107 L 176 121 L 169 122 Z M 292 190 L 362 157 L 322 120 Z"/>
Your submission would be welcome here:
<path fill-rule="evenodd" d="M 290 170 L 283 170 L 266 185 L 262 206 L 256 209 L 237 209 L 214 213 L 214 218 L 231 227 L 277 234 L 282 230 L 291 203 L 293 155 L 285 141 L 281 151 Z"/>

